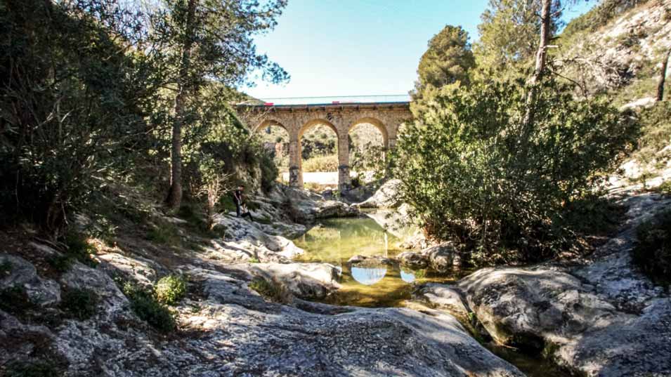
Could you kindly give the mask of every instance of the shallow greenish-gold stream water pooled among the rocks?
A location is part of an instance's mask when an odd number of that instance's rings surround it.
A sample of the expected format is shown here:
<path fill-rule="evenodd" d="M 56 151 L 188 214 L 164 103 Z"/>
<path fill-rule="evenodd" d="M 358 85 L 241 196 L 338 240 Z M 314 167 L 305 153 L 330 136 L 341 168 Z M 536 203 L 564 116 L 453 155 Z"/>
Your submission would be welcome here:
<path fill-rule="evenodd" d="M 449 283 L 461 277 L 441 276 L 429 270 L 405 270 L 395 264 L 362 263 L 350 267 L 347 261 L 356 255 L 392 258 L 402 251 L 398 246 L 400 240 L 385 232 L 372 218 L 323 220 L 303 236 L 294 239 L 294 243 L 306 251 L 297 260 L 330 263 L 341 268 L 342 288 L 325 300 L 335 305 L 403 306 L 404 301 L 411 298 L 414 284 Z M 483 345 L 517 366 L 527 376 L 570 376 L 538 355 L 525 355 L 494 343 Z"/>

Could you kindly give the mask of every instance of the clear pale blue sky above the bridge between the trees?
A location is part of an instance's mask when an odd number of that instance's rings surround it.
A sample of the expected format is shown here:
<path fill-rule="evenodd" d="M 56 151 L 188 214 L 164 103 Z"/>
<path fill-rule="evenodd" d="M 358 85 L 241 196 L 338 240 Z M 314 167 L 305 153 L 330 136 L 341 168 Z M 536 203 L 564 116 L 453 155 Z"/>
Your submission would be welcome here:
<path fill-rule="evenodd" d="M 461 25 L 471 42 L 488 0 L 289 0 L 278 26 L 256 38 L 292 76 L 258 82 L 256 98 L 396 95 L 412 89 L 426 44 L 445 25 Z M 580 1 L 564 18 L 587 11 Z"/>

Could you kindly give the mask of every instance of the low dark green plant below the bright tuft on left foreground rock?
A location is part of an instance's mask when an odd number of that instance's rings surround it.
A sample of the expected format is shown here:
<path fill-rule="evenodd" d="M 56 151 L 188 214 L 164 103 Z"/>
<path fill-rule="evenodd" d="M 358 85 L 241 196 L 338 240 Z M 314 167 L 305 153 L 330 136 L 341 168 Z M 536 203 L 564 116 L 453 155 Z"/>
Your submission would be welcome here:
<path fill-rule="evenodd" d="M 156 299 L 152 291 L 131 282 L 125 282 L 122 291 L 131 302 L 133 312 L 155 329 L 169 333 L 177 328 L 175 315 Z"/>

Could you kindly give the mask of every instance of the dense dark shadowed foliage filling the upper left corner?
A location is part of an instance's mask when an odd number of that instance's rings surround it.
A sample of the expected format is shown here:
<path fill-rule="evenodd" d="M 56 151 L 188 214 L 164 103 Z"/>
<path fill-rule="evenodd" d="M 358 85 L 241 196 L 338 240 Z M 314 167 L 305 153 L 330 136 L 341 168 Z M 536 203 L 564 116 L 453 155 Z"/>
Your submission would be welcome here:
<path fill-rule="evenodd" d="M 25 219 L 58 234 L 67 213 L 89 204 L 135 155 L 126 145 L 143 144 L 140 102 L 152 88 L 138 79 L 143 62 L 123 47 L 138 24 L 128 18 L 117 29 L 113 20 L 126 13 L 103 0 L 4 7 L 0 221 Z"/>

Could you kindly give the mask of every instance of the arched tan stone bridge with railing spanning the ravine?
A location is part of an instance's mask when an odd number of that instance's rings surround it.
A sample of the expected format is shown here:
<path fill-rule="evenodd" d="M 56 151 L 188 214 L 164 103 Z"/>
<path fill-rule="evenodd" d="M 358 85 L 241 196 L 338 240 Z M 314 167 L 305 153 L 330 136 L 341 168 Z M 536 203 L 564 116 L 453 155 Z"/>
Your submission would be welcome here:
<path fill-rule="evenodd" d="M 373 101 L 369 102 L 363 99 L 358 102 L 330 101 L 315 104 L 240 104 L 237 105 L 237 112 L 252 131 L 280 126 L 289 133 L 289 185 L 294 187 L 303 187 L 301 137 L 308 128 L 318 124 L 331 128 L 338 140 L 338 187 L 344 192 L 351 187 L 349 131 L 358 124 L 372 124 L 382 133 L 384 148 L 389 149 L 396 144 L 400 125 L 411 117 L 410 102 L 397 100 L 398 97 L 405 99 L 407 96 L 376 97 L 372 97 Z"/>

